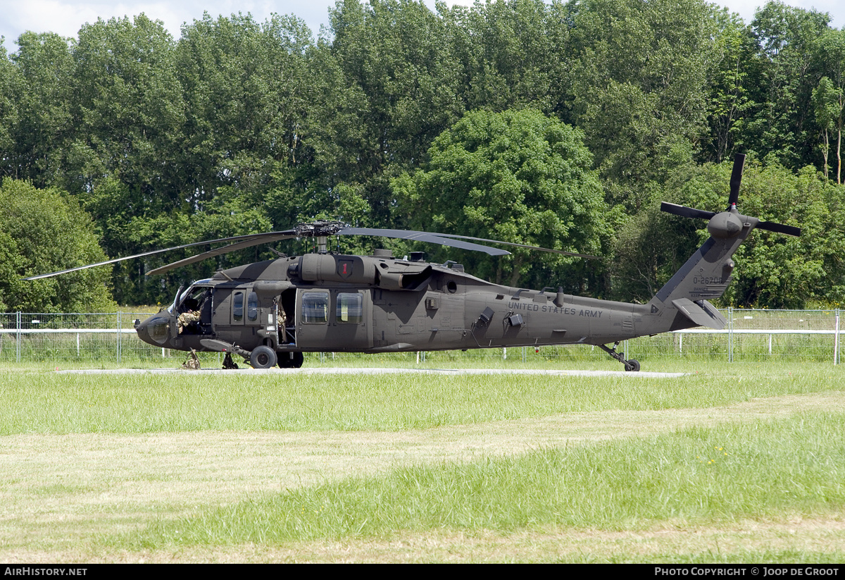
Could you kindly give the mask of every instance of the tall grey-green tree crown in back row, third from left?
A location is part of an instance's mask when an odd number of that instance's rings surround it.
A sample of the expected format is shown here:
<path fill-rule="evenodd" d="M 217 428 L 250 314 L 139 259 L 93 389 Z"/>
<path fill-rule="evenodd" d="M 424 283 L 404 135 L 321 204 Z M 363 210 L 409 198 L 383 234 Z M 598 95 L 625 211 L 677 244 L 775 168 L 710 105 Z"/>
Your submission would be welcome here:
<path fill-rule="evenodd" d="M 226 196 L 258 201 L 274 174 L 308 161 L 303 123 L 313 98 L 306 55 L 310 31 L 299 19 L 251 16 L 194 20 L 177 47 L 186 104 L 185 189 L 199 211 Z"/>

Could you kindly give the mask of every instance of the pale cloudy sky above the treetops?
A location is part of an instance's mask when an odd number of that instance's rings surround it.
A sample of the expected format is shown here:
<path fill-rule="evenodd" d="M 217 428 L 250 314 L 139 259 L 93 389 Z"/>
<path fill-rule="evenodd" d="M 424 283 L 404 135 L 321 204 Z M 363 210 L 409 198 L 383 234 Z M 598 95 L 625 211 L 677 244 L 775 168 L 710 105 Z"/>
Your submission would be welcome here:
<path fill-rule="evenodd" d="M 717 0 L 732 12 L 739 13 L 746 23 L 754 18 L 755 9 L 766 0 Z M 429 8 L 434 0 L 425 0 Z M 447 0 L 447 4 L 472 5 L 472 0 Z M 845 26 L 845 2 L 842 0 L 788 0 L 798 8 L 815 8 L 831 14 L 834 28 Z M 181 36 L 183 23 L 201 19 L 203 12 L 212 17 L 241 12 L 250 13 L 258 22 L 270 14 L 296 14 L 305 20 L 314 36 L 320 25 L 329 25 L 329 8 L 335 0 L 0 0 L 0 36 L 5 36 L 8 52 L 17 50 L 15 41 L 22 32 L 56 32 L 76 37 L 79 28 L 97 18 L 135 16 L 144 13 L 161 20 L 174 38 Z"/>

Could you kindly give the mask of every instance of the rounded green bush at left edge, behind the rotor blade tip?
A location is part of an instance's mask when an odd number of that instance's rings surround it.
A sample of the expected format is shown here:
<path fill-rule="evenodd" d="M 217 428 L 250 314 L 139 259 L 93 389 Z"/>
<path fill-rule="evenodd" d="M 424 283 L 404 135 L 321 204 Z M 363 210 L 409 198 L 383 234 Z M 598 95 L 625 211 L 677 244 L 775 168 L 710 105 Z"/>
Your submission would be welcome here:
<path fill-rule="evenodd" d="M 57 189 L 0 185 L 0 306 L 25 312 L 100 312 L 116 307 L 108 271 L 92 268 L 46 280 L 20 278 L 106 260 L 90 217 Z"/>

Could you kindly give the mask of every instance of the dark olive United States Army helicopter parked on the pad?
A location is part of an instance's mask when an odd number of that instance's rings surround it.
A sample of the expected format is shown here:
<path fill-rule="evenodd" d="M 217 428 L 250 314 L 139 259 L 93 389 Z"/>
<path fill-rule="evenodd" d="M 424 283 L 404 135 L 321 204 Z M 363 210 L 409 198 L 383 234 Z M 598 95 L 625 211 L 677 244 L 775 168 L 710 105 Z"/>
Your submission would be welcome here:
<path fill-rule="evenodd" d="M 335 234 L 418 240 L 491 255 L 509 252 L 477 242 L 521 245 L 444 233 L 347 227 L 339 222 L 313 222 L 283 232 L 191 243 L 95 265 L 200 244 L 228 243 L 147 272 L 155 275 L 261 243 L 317 238 L 318 253 L 218 271 L 187 290 L 180 288 L 169 308 L 135 323 L 144 342 L 188 352 L 226 353 L 226 367 L 235 366 L 232 354 L 248 359 L 254 368 L 276 364 L 294 368 L 303 364 L 307 352 L 590 344 L 619 360 L 625 370 L 635 371 L 640 363 L 625 360 L 616 350 L 619 342 L 693 326 L 722 329 L 727 324 L 708 299 L 725 292 L 731 281 L 733 253 L 755 227 L 800 234 L 798 227 L 761 222 L 739 213 L 743 164 L 744 156 L 737 156 L 725 211 L 662 204 L 662 211 L 709 220 L 710 238 L 647 304 L 584 298 L 560 289 L 549 293 L 501 286 L 471 276 L 455 263 L 428 263 L 422 252 L 401 260 L 389 250 L 376 250 L 373 255 L 330 253 L 327 238 Z"/>

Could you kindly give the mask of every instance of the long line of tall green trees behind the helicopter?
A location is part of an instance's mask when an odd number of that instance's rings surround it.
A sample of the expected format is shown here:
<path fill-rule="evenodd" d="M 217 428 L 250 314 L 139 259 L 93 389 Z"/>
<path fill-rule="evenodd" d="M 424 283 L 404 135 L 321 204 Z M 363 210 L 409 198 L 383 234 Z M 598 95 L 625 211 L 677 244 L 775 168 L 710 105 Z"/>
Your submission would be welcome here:
<path fill-rule="evenodd" d="M 722 209 L 737 152 L 749 155 L 740 210 L 806 234 L 752 234 L 722 303 L 842 296 L 845 31 L 824 13 L 770 2 L 745 23 L 702 0 L 488 0 L 434 12 L 339 0 L 324 36 L 294 15 L 204 14 L 175 40 L 140 14 L 15 43 L 0 44 L 0 199 L 28 199 L 19 211 L 45 217 L 0 218 L 7 309 L 68 309 L 58 282 L 19 277 L 98 252 L 318 217 L 595 254 L 461 260 L 514 286 L 644 301 L 705 235 L 703 223 L 660 214 L 659 201 Z M 75 254 L 74 244 L 34 249 L 57 243 L 51 212 L 79 216 Z M 410 248 L 340 242 L 373 244 Z M 67 283 L 101 288 L 89 304 L 166 304 L 181 282 L 267 251 L 144 276 L 175 252 Z"/>

